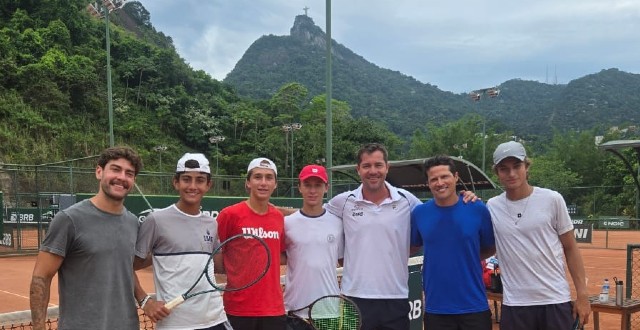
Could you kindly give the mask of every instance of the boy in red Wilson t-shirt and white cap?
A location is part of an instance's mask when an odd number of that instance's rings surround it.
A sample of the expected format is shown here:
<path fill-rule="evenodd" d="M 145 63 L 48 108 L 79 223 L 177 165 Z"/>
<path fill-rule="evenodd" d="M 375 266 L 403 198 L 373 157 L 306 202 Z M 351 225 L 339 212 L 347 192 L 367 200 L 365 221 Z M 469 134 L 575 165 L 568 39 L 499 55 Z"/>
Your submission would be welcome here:
<path fill-rule="evenodd" d="M 249 163 L 245 187 L 249 199 L 228 206 L 216 218 L 220 241 L 238 234 L 262 238 L 271 253 L 267 274 L 240 291 L 225 292 L 224 307 L 234 329 L 283 330 L 284 301 L 280 287 L 280 253 L 284 250 L 284 217 L 269 203 L 277 187 L 278 170 L 268 158 Z M 223 255 L 224 256 L 224 255 Z"/>

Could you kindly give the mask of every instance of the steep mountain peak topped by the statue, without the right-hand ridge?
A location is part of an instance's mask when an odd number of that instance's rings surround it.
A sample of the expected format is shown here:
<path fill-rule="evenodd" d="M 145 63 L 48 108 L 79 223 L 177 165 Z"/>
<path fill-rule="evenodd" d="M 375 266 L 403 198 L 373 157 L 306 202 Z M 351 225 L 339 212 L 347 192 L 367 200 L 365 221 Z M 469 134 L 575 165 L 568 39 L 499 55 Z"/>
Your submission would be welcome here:
<path fill-rule="evenodd" d="M 310 95 L 325 92 L 326 36 L 305 15 L 295 18 L 290 36 L 263 36 L 256 40 L 224 79 L 238 94 L 269 98 L 291 81 L 302 83 Z M 333 97 L 347 101 L 356 117 L 387 123 L 408 135 L 415 123 L 451 120 L 469 110 L 460 95 L 443 92 L 413 77 L 368 62 L 333 41 Z"/>

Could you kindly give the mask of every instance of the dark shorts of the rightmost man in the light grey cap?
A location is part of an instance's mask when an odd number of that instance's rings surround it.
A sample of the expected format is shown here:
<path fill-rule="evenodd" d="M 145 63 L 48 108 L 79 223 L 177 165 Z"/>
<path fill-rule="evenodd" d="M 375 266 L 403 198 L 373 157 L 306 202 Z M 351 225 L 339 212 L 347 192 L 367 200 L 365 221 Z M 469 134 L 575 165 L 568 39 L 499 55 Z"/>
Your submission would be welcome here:
<path fill-rule="evenodd" d="M 500 330 L 571 329 L 574 321 L 572 311 L 571 302 L 538 306 L 502 305 Z"/>

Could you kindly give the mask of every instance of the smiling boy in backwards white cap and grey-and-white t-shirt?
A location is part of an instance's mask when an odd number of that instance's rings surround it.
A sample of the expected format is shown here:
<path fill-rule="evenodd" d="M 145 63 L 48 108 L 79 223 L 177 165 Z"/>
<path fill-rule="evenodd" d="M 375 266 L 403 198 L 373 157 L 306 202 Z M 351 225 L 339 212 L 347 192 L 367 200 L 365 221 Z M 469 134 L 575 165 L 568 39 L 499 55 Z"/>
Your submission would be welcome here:
<path fill-rule="evenodd" d="M 178 201 L 149 214 L 140 226 L 134 268 L 153 263 L 156 299 L 146 293 L 139 304 L 156 329 L 230 330 L 220 292 L 188 299 L 172 311 L 166 301 L 180 296 L 198 278 L 213 250 L 219 245 L 216 221 L 201 211 L 204 195 L 211 189 L 209 161 L 203 154 L 186 153 L 178 161 L 173 187 Z M 207 290 L 206 281 L 194 291 Z M 141 290 L 141 288 L 140 288 Z"/>

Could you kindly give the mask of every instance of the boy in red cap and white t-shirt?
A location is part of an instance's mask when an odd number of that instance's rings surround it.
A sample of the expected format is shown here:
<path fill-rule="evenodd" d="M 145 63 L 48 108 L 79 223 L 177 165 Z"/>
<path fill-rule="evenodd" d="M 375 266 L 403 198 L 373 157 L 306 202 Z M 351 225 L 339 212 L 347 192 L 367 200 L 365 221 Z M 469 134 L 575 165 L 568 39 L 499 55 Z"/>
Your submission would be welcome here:
<path fill-rule="evenodd" d="M 329 190 L 327 171 L 319 165 L 307 165 L 298 176 L 302 209 L 284 219 L 287 264 L 284 290 L 285 309 L 299 310 L 314 300 L 340 294 L 336 267 L 344 253 L 342 220 L 323 207 Z M 313 285 L 309 285 L 313 283 Z M 308 310 L 295 312 L 308 318 Z M 288 329 L 313 329 L 299 318 L 287 318 Z"/>

